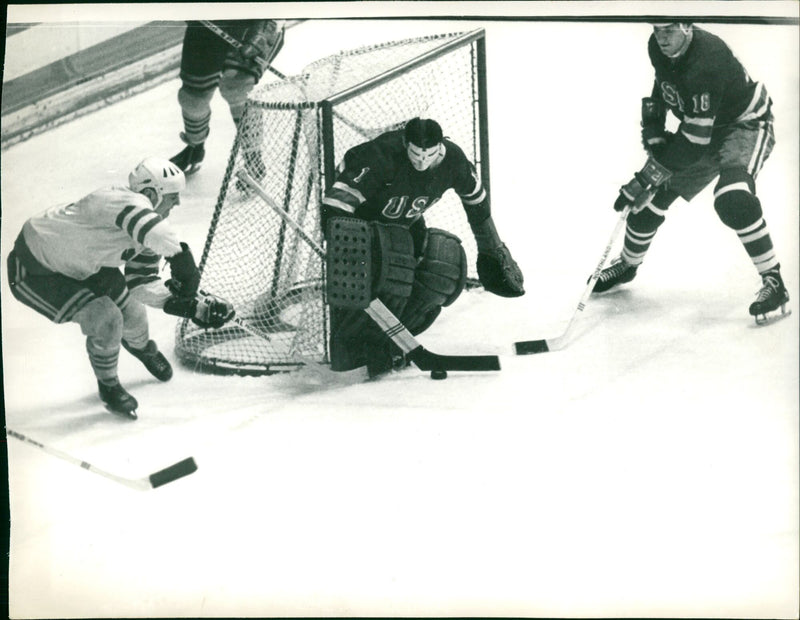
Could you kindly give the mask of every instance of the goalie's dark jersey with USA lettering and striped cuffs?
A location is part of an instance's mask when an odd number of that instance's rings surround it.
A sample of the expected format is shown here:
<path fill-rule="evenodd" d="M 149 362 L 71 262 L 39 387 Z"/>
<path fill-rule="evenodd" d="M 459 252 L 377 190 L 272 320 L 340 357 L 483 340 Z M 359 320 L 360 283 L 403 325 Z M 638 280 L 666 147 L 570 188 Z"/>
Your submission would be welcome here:
<path fill-rule="evenodd" d="M 326 215 L 347 213 L 364 220 L 411 227 L 449 189 L 461 199 L 467 217 L 489 215 L 489 199 L 475 166 L 461 148 L 443 140 L 438 165 L 418 171 L 403 144 L 403 130 L 381 134 L 351 148 L 339 165 L 336 182 L 323 199 Z"/>

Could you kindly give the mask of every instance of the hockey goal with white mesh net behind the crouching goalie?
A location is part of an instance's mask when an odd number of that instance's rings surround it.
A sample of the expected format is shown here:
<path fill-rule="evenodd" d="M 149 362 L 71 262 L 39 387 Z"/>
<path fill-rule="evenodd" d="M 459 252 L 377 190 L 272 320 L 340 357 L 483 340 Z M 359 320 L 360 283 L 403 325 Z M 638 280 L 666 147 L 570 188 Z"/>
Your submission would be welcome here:
<path fill-rule="evenodd" d="M 182 320 L 178 358 L 206 372 L 252 375 L 328 363 L 320 212 L 336 165 L 356 144 L 428 117 L 488 188 L 485 80 L 484 31 L 476 30 L 340 52 L 254 89 L 200 260 L 201 289 L 232 302 L 236 319 L 217 330 Z M 455 193 L 424 217 L 461 238 L 477 283 L 477 250 Z"/>

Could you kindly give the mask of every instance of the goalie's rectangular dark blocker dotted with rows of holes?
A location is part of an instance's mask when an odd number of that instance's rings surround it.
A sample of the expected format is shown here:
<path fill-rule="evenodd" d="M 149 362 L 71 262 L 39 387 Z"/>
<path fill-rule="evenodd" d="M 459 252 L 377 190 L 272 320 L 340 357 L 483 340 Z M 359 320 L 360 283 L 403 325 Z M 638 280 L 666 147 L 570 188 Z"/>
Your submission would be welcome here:
<path fill-rule="evenodd" d="M 369 222 L 353 217 L 328 220 L 325 257 L 328 304 L 366 308 L 372 301 L 372 237 Z"/>

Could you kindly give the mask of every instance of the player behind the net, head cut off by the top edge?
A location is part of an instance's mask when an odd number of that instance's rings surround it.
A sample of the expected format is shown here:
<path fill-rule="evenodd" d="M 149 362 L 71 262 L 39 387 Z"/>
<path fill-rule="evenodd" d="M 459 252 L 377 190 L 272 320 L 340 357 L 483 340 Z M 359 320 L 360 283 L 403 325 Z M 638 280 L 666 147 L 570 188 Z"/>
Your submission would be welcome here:
<path fill-rule="evenodd" d="M 183 115 L 180 137 L 187 146 L 171 158 L 186 174 L 196 172 L 205 157 L 205 141 L 211 120 L 210 103 L 217 87 L 228 102 L 233 122 L 238 126 L 247 95 L 264 74 L 256 58 L 269 64 L 283 47 L 282 21 L 251 19 L 215 23 L 241 41 L 243 46 L 236 50 L 200 22 L 187 22 L 181 50 L 181 88 L 178 91 Z M 263 164 L 259 166 L 259 162 L 253 162 L 251 167 L 251 174 L 260 177 L 259 169 Z"/>

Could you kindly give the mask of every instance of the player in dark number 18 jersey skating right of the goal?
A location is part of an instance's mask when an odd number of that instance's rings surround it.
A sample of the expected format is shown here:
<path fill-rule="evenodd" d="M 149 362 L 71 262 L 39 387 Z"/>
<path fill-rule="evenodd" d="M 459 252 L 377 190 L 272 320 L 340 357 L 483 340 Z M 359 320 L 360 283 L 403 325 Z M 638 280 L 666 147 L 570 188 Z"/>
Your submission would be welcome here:
<path fill-rule="evenodd" d="M 633 280 L 669 206 L 678 197 L 690 201 L 718 178 L 714 209 L 762 279 L 750 314 L 761 323 L 778 308 L 788 313 L 789 294 L 756 197 L 756 176 L 775 143 L 766 88 L 719 37 L 692 24 L 653 24 L 648 53 L 655 69 L 652 94 L 642 100 L 649 159 L 614 204 L 618 211 L 632 205 L 625 244 L 594 290 Z M 667 111 L 680 121 L 675 133 L 665 129 Z"/>

